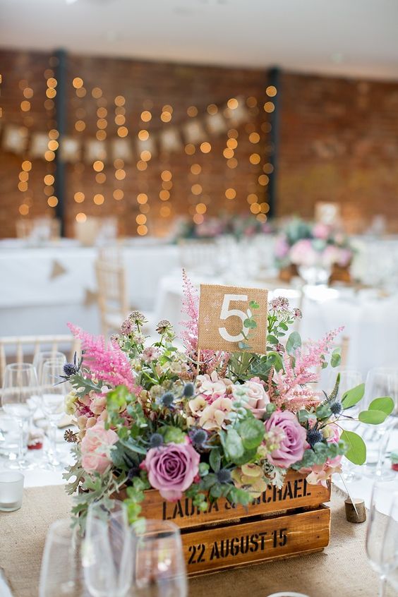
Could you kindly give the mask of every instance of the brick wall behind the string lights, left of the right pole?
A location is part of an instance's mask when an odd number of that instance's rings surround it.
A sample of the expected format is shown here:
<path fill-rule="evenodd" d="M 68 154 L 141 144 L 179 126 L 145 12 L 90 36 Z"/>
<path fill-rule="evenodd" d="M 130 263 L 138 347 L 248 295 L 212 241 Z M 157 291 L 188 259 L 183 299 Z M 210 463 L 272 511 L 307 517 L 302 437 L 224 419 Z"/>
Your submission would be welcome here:
<path fill-rule="evenodd" d="M 18 84 L 20 80 L 25 79 L 34 90 L 30 100 L 32 109 L 29 113 L 29 116 L 32 116 L 32 122 L 28 122 L 31 130 L 42 130 L 44 127 L 44 131 L 47 131 L 54 126 L 52 119 L 46 116 L 44 108 L 47 83 L 43 73 L 50 68 L 49 60 L 49 56 L 40 54 L 0 52 L 0 63 L 4 64 L 1 85 L 4 124 L 23 123 L 20 101 L 24 98 Z M 49 74 L 51 73 L 47 73 L 47 76 Z M 83 80 L 83 92 L 81 88 L 73 87 L 74 78 Z M 95 139 L 98 131 L 105 131 L 107 138 L 102 143 L 107 144 L 111 139 L 117 138 L 119 126 L 128 128 L 128 139 L 135 140 L 140 130 L 148 131 L 152 138 L 170 126 L 179 128 L 184 123 L 195 120 L 187 114 L 189 107 L 195 107 L 199 117 L 207 114 L 207 107 L 210 104 L 215 104 L 221 110 L 227 100 L 233 97 L 251 97 L 252 100 L 249 102 L 251 107 L 246 106 L 248 119 L 244 123 L 240 126 L 229 123 L 225 133 L 208 134 L 204 139 L 211 145 L 208 153 L 203 153 L 199 147 L 196 147 L 193 155 L 187 154 L 184 144 L 181 145 L 181 150 L 169 154 L 159 152 L 157 147 L 156 154 L 147 162 L 145 170 L 139 169 L 143 167 L 139 155 L 135 155 L 131 163 L 125 162 L 122 165 L 120 162 L 116 163 L 116 167 L 114 159 L 109 159 L 100 173 L 93 169 L 92 163 L 68 165 L 66 188 L 68 234 L 73 233 L 73 222 L 79 212 L 96 216 L 117 215 L 121 234 L 128 235 L 136 234 L 138 227 L 136 217 L 140 212 L 147 217 L 146 224 L 149 231 L 159 232 L 169 227 L 174 215 L 190 213 L 193 216 L 198 203 L 205 204 L 207 213 L 212 215 L 222 211 L 250 214 L 248 195 L 257 194 L 258 203 L 264 203 L 266 193 L 264 184 L 258 182 L 259 176 L 263 174 L 263 163 L 267 161 L 265 158 L 267 125 L 264 124 L 267 121 L 267 114 L 263 110 L 265 88 L 266 75 L 263 71 L 69 56 L 67 132 L 82 140 Z M 84 92 L 85 95 L 83 95 Z M 93 93 L 96 97 L 93 97 Z M 117 100 L 123 104 L 121 106 L 115 104 L 115 98 L 118 96 L 123 98 L 120 100 L 119 97 Z M 258 99 L 260 109 L 253 105 L 255 103 L 253 98 Z M 163 122 L 160 118 L 164 106 L 172 107 L 170 122 Z M 152 115 L 149 122 L 143 122 L 140 119 L 144 110 L 150 111 Z M 116 111 L 119 114 L 116 114 Z M 99 122 L 99 115 L 104 115 L 102 122 Z M 119 116 L 119 125 L 115 123 L 116 116 Z M 126 121 L 123 122 L 120 116 Z M 80 121 L 78 128 L 84 126 L 83 131 L 76 130 L 78 121 Z M 81 122 L 84 124 L 82 125 Z M 98 128 L 105 125 L 106 128 Z M 249 140 L 249 135 L 253 132 L 260 136 L 258 143 L 251 143 Z M 104 136 L 103 133 L 100 133 L 100 137 L 101 135 Z M 224 157 L 229 135 L 231 139 L 236 138 L 237 144 L 232 149 L 232 157 L 231 151 L 227 154 L 229 157 Z M 231 143 L 234 145 L 233 140 Z M 261 155 L 259 164 L 250 162 L 249 158 L 253 153 Z M 18 191 L 18 173 L 23 159 L 24 156 L 16 157 L 4 152 L 1 154 L 0 176 L 5 181 L 0 188 L 2 236 L 13 234 L 13 220 L 18 217 L 21 203 L 28 202 L 29 215 L 53 211 L 47 206 L 43 183 L 46 170 L 53 169 L 52 162 L 46 164 L 42 159 L 33 160 L 27 195 L 25 192 Z M 138 164 L 138 162 L 141 163 Z M 198 165 L 195 165 L 191 172 L 194 164 Z M 117 176 L 126 174 L 124 179 L 116 179 L 116 169 L 119 170 Z M 164 171 L 171 172 L 171 181 L 162 180 Z M 166 178 L 168 176 L 167 174 Z M 226 197 L 225 192 L 229 188 L 236 191 L 234 198 Z M 117 191 L 116 199 L 115 191 Z M 120 191 L 123 191 L 122 199 L 119 199 Z M 161 191 L 167 191 L 169 198 L 166 200 L 159 198 Z M 46 192 L 50 193 L 51 188 Z M 167 197 L 167 192 L 162 194 L 163 198 Z M 77 195 L 80 199 L 84 195 L 83 202 L 76 203 L 74 199 L 76 193 L 80 193 Z M 147 195 L 146 204 L 138 203 L 137 198 L 140 194 L 141 198 L 143 194 Z M 102 195 L 104 203 L 96 205 L 95 195 Z M 101 197 L 100 201 L 102 201 Z"/>

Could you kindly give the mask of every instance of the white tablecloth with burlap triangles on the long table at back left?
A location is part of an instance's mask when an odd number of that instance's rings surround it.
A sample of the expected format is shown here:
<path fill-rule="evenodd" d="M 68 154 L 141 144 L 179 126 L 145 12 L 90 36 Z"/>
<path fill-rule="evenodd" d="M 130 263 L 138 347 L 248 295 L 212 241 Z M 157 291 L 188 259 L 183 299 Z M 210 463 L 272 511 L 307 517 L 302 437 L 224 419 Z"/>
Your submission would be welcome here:
<path fill-rule="evenodd" d="M 1 248 L 0 336 L 67 333 L 66 322 L 100 333 L 95 248 Z M 179 263 L 176 246 L 123 249 L 131 306 L 152 310 L 159 279 Z"/>

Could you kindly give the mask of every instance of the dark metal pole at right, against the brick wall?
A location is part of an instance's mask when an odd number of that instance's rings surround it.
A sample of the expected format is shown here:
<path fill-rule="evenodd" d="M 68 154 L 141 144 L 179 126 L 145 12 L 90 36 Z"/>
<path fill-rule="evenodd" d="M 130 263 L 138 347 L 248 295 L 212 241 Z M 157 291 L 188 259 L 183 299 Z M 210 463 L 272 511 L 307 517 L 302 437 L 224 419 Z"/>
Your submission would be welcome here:
<path fill-rule="evenodd" d="M 281 105 L 281 85 L 279 68 L 271 68 L 268 71 L 268 86 L 275 87 L 277 94 L 267 97 L 267 101 L 272 101 L 275 106 L 274 111 L 270 113 L 270 155 L 268 161 L 272 165 L 272 172 L 269 174 L 268 183 L 268 205 L 270 211 L 268 215 L 275 217 L 277 214 L 277 174 L 278 174 L 278 155 L 279 155 L 279 110 Z"/>

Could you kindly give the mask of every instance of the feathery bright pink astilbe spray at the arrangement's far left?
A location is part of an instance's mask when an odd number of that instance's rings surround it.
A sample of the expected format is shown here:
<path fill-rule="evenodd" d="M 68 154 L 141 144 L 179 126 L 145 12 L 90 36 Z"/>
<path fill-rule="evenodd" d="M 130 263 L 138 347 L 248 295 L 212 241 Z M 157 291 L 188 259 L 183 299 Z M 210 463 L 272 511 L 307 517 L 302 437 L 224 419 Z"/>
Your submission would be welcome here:
<path fill-rule="evenodd" d="M 103 336 L 93 336 L 72 323 L 68 323 L 68 327 L 73 336 L 80 339 L 83 366 L 88 367 L 92 378 L 111 387 L 125 385 L 133 394 L 140 392 L 140 387 L 135 384 L 128 358 L 117 342 L 109 342 L 106 345 Z"/>

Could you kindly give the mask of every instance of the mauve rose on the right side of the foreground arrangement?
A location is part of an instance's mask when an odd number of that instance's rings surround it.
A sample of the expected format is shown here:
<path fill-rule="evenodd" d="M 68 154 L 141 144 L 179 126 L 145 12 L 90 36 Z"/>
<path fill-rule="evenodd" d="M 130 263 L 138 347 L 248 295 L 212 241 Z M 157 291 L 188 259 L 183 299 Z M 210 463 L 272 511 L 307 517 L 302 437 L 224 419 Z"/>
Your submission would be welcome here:
<path fill-rule="evenodd" d="M 281 435 L 278 449 L 268 455 L 271 464 L 288 469 L 291 464 L 303 458 L 307 447 L 307 433 L 298 423 L 295 414 L 289 411 L 275 411 L 265 423 L 265 429 Z"/>

